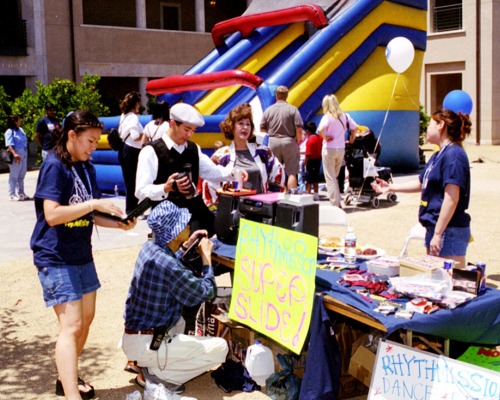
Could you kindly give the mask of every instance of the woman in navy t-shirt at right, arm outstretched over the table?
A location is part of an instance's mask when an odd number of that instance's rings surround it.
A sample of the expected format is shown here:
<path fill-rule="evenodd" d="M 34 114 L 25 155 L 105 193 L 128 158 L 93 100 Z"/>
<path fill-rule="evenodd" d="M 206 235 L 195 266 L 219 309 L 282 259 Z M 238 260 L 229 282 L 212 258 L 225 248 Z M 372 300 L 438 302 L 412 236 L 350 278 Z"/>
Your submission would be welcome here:
<path fill-rule="evenodd" d="M 427 142 L 439 146 L 418 180 L 372 183 L 378 193 L 422 192 L 419 221 L 425 227 L 427 254 L 450 258 L 464 268 L 470 240 L 470 166 L 462 142 L 470 135 L 468 114 L 439 110 L 432 114 Z"/>

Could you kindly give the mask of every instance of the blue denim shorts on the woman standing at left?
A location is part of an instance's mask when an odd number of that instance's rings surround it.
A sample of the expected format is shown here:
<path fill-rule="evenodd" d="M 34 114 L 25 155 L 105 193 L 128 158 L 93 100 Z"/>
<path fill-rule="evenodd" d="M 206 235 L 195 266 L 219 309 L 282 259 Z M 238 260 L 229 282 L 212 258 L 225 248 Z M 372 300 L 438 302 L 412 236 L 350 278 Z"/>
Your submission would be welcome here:
<path fill-rule="evenodd" d="M 94 262 L 37 268 L 47 307 L 81 300 L 84 294 L 101 287 Z"/>

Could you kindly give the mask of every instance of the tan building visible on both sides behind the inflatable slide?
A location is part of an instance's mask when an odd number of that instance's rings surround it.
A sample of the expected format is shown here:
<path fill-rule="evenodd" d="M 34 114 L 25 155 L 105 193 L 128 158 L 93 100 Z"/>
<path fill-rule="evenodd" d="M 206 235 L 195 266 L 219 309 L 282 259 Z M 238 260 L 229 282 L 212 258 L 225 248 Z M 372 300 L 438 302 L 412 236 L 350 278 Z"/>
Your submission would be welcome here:
<path fill-rule="evenodd" d="M 36 81 L 97 74 L 105 97 L 144 93 L 149 79 L 182 74 L 211 51 L 212 27 L 250 3 L 3 0 L 0 85 L 16 97 Z M 451 90 L 466 91 L 473 99 L 469 140 L 500 144 L 500 1 L 429 0 L 428 11 L 421 104 L 431 113 Z"/>

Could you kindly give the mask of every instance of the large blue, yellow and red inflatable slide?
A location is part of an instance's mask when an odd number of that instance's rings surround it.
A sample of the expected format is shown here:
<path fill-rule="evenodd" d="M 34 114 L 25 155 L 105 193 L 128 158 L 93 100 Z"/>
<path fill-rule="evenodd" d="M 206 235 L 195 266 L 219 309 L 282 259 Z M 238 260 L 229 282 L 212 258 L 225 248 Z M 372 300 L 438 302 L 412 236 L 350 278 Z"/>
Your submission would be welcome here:
<path fill-rule="evenodd" d="M 283 8 L 217 24 L 213 51 L 184 75 L 152 80 L 146 90 L 171 105 L 182 101 L 200 110 L 206 124 L 194 140 L 207 152 L 224 140 L 219 123 L 235 105 L 250 103 L 259 126 L 278 85 L 290 88 L 288 101 L 304 122 L 318 122 L 323 96 L 335 93 L 344 111 L 380 137 L 382 165 L 417 168 L 427 1 L 347 0 L 323 7 L 273 2 L 280 4 Z M 258 5 L 254 0 L 250 8 Z M 409 39 L 414 48 L 404 72 L 393 70 L 386 59 L 387 45 L 397 37 Z M 116 126 L 116 118 L 102 121 Z M 94 163 L 101 164 L 99 153 L 109 151 L 96 151 Z M 118 179 L 110 172 L 111 158 L 98 168 L 105 191 Z"/>

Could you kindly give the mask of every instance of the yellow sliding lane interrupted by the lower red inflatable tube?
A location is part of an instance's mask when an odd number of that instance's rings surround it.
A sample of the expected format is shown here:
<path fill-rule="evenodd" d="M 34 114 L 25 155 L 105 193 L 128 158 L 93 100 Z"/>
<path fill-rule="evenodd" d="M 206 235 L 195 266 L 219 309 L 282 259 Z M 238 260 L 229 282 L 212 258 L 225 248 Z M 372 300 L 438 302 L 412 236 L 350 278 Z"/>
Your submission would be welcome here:
<path fill-rule="evenodd" d="M 268 44 L 252 54 L 245 62 L 238 66 L 238 69 L 257 74 L 274 57 L 276 57 L 285 47 L 304 34 L 304 23 L 294 23 L 278 34 Z M 239 85 L 210 91 L 202 100 L 196 104 L 196 108 L 203 115 L 212 115 L 222 104 L 224 104 L 236 91 Z"/>

